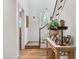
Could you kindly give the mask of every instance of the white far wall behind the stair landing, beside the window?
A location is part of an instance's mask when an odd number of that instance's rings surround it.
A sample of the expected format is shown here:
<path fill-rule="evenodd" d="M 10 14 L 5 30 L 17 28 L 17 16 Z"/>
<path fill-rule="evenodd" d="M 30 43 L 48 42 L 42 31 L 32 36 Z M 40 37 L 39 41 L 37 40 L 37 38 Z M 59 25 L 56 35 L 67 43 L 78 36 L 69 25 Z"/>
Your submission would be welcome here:
<path fill-rule="evenodd" d="M 40 13 L 48 8 L 50 15 L 53 13 L 56 0 L 29 0 L 30 20 L 29 20 L 29 34 L 28 39 L 30 41 L 39 41 L 39 23 Z M 33 20 L 33 16 L 36 20 Z"/>

